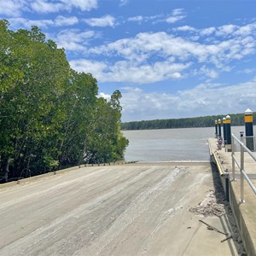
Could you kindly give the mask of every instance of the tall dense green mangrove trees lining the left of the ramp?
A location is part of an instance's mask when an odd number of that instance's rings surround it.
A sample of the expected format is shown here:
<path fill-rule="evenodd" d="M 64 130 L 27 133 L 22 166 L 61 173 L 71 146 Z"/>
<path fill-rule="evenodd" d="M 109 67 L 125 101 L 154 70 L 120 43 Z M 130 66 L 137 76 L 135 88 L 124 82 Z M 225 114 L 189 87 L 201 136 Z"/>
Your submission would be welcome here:
<path fill-rule="evenodd" d="M 119 90 L 98 98 L 96 79 L 36 26 L 0 20 L 0 38 L 0 182 L 123 157 Z"/>

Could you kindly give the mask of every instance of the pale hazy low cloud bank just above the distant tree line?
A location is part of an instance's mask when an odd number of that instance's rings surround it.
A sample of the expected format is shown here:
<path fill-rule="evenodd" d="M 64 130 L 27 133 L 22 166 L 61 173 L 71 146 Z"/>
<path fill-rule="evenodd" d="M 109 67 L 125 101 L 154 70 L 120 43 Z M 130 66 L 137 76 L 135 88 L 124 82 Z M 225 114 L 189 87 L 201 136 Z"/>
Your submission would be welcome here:
<path fill-rule="evenodd" d="M 241 84 L 199 84 L 177 94 L 122 90 L 122 120 L 169 119 L 256 109 L 256 79 Z"/>

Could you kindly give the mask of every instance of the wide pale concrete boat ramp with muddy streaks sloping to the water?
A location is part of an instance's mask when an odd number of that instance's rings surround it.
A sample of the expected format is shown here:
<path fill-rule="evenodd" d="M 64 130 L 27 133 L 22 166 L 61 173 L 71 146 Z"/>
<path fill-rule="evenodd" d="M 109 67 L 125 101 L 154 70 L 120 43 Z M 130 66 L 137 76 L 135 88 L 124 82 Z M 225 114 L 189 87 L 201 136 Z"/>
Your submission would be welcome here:
<path fill-rule="evenodd" d="M 83 166 L 3 184 L 0 226 L 2 256 L 243 253 L 210 162 Z"/>

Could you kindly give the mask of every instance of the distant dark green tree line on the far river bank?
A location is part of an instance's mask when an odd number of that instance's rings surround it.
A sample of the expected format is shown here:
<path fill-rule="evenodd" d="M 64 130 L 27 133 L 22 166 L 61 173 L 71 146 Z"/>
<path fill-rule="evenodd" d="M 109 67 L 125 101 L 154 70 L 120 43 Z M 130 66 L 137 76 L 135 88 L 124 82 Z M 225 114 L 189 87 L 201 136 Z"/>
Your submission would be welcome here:
<path fill-rule="evenodd" d="M 215 120 L 223 119 L 225 115 L 201 116 L 183 119 L 155 119 L 126 122 L 121 124 L 122 130 L 151 130 L 172 128 L 211 127 Z M 244 113 L 230 114 L 231 125 L 244 125 Z M 256 124 L 256 113 L 253 113 L 253 124 Z"/>

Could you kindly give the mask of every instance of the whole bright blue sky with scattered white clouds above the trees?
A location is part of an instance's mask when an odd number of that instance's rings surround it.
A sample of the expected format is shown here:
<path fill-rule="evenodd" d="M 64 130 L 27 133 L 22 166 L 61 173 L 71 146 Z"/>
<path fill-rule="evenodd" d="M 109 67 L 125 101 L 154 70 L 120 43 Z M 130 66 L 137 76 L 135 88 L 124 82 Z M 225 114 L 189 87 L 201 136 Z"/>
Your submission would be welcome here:
<path fill-rule="evenodd" d="M 256 111 L 256 1 L 0 0 L 11 29 L 38 26 L 122 120 Z"/>

